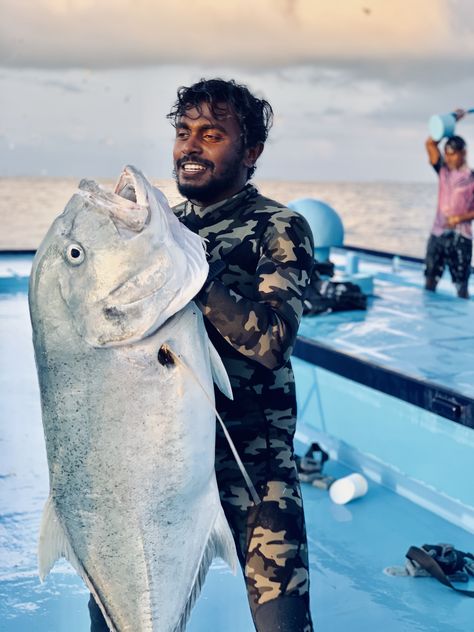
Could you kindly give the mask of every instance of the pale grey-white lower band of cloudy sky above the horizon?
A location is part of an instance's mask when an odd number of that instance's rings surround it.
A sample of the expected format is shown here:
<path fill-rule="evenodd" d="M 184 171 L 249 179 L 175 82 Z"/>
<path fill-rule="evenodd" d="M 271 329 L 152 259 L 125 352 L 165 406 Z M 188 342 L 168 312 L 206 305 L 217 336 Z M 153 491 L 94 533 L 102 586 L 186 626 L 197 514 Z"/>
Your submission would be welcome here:
<path fill-rule="evenodd" d="M 310 66 L 9 68 L 0 73 L 2 173 L 115 177 L 132 163 L 169 177 L 173 129 L 166 114 L 176 89 L 213 71 L 247 84 L 275 110 L 259 178 L 431 181 L 424 152 L 429 116 L 474 107 L 470 74 L 447 88 L 351 81 L 345 70 Z M 474 146 L 474 116 L 459 133 Z"/>

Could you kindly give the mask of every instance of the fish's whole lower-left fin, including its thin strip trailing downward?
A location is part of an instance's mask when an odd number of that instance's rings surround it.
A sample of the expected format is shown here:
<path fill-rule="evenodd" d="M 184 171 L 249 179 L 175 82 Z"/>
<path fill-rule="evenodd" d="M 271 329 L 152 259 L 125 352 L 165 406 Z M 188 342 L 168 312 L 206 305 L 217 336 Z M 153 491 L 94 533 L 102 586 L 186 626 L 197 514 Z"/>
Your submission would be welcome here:
<path fill-rule="evenodd" d="M 74 568 L 76 573 L 81 577 L 89 591 L 94 596 L 94 599 L 99 606 L 104 619 L 109 627 L 110 632 L 117 632 L 117 628 L 111 621 L 107 611 L 101 604 L 97 590 L 94 584 L 83 568 L 82 564 L 77 559 L 76 554 L 69 542 L 69 538 L 54 507 L 51 496 L 46 501 L 44 506 L 43 516 L 41 518 L 41 528 L 38 546 L 38 567 L 40 580 L 43 582 L 50 570 L 53 568 L 55 562 L 64 557 Z"/>

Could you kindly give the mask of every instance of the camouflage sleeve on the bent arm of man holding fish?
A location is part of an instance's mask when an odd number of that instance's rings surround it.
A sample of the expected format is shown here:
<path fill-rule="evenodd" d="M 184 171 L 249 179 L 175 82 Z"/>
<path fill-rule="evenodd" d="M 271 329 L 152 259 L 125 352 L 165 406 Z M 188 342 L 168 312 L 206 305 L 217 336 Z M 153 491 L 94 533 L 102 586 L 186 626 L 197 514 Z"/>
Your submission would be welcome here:
<path fill-rule="evenodd" d="M 312 266 L 311 229 L 303 217 L 285 210 L 272 218 L 260 242 L 257 300 L 215 280 L 203 288 L 196 302 L 234 349 L 276 369 L 292 353 Z"/>

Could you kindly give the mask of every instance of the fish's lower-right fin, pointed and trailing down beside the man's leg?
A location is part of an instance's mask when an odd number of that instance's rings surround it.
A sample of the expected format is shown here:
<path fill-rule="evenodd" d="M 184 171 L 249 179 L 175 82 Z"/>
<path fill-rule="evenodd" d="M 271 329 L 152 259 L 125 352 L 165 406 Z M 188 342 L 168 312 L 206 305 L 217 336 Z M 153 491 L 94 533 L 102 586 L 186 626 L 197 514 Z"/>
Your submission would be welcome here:
<path fill-rule="evenodd" d="M 237 551 L 235 549 L 234 538 L 232 537 L 232 533 L 222 507 L 219 507 L 219 512 L 204 549 L 201 563 L 196 572 L 186 606 L 184 607 L 181 618 L 173 632 L 185 632 L 189 615 L 196 603 L 196 599 L 199 597 L 207 572 L 212 560 L 215 557 L 220 557 L 224 560 L 224 562 L 230 566 L 235 575 L 238 566 Z"/>

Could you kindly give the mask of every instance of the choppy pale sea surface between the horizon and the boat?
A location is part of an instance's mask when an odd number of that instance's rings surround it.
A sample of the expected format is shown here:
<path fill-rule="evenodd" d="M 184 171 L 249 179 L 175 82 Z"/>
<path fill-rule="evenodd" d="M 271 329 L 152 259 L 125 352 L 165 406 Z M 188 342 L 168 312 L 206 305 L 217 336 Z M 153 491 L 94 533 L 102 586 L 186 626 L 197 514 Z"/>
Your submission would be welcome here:
<path fill-rule="evenodd" d="M 97 178 L 112 188 L 113 181 Z M 153 180 L 153 179 L 152 179 Z M 78 178 L 0 178 L 0 250 L 35 249 L 76 191 Z M 171 205 L 181 200 L 173 180 L 153 180 Z M 345 243 L 422 257 L 436 206 L 436 182 L 255 181 L 283 204 L 312 197 L 332 206 Z"/>

